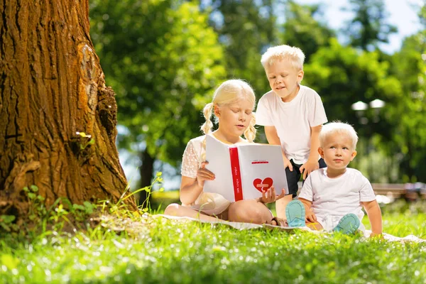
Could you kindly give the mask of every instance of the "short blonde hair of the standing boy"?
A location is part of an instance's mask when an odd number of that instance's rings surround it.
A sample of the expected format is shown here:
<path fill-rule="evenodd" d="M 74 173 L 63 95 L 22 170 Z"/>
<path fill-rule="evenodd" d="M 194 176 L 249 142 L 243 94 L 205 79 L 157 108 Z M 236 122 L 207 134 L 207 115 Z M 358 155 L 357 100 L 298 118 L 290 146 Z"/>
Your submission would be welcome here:
<path fill-rule="evenodd" d="M 303 62 L 305 62 L 305 54 L 300 48 L 290 45 L 277 45 L 268 48 L 266 53 L 263 53 L 261 63 L 263 68 L 273 65 L 275 60 L 290 60 L 296 70 L 303 70 Z"/>

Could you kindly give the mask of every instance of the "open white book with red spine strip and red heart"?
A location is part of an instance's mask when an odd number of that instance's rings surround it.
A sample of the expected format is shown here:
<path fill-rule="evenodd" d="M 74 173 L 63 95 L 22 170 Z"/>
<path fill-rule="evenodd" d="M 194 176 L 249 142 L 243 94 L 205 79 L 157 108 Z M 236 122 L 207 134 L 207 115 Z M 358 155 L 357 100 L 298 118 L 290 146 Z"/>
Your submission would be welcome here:
<path fill-rule="evenodd" d="M 237 143 L 228 145 L 207 135 L 206 165 L 216 178 L 204 182 L 204 192 L 219 193 L 235 202 L 262 196 L 272 185 L 275 194 L 288 194 L 281 146 Z"/>

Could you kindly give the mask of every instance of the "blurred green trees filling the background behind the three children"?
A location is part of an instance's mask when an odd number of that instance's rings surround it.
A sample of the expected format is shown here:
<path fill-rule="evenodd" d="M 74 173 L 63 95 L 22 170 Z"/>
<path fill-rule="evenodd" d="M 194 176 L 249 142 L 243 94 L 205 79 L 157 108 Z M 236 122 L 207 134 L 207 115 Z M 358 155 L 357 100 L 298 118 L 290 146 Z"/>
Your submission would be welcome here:
<path fill-rule="evenodd" d="M 268 92 L 261 54 L 278 44 L 305 52 L 302 84 L 320 94 L 329 121 L 358 131 L 352 168 L 371 182 L 426 182 L 425 1 L 412 7 L 420 30 L 392 53 L 381 50 L 397 32 L 383 0 L 347 2 L 352 18 L 336 30 L 322 4 L 297 1 L 90 1 L 91 37 L 116 92 L 117 144 L 133 190 L 158 171 L 166 190 L 178 189 L 182 153 L 201 135 L 214 87 L 242 78 L 259 99 Z"/>

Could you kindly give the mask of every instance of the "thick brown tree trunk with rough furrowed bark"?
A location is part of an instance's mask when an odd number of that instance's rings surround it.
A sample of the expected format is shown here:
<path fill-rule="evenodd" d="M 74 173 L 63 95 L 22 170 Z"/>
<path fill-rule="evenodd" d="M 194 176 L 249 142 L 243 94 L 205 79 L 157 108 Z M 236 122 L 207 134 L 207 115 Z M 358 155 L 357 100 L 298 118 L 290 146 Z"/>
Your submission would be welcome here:
<path fill-rule="evenodd" d="M 0 214 L 25 216 L 30 185 L 47 206 L 118 200 L 127 182 L 115 94 L 90 40 L 89 2 L 0 0 L 0 13 Z"/>

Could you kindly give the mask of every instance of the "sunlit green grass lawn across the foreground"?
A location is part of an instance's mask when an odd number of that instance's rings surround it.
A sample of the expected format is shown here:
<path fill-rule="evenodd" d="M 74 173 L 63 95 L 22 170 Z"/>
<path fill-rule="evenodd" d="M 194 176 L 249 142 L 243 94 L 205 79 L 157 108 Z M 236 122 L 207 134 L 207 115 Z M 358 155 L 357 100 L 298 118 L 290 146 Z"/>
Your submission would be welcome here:
<path fill-rule="evenodd" d="M 384 207 L 384 231 L 426 239 L 424 205 Z M 425 243 L 137 221 L 31 241 L 2 235 L 0 283 L 426 283 Z"/>

